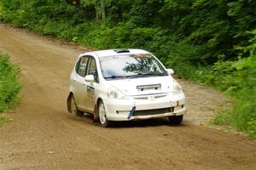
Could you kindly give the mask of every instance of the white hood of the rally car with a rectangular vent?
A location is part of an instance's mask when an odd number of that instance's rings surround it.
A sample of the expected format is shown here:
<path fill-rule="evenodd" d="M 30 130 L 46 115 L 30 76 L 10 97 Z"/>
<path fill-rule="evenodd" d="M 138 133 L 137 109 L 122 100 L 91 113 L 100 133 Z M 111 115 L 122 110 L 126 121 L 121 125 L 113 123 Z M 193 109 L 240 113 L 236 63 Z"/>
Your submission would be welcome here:
<path fill-rule="evenodd" d="M 119 89 L 125 95 L 146 95 L 171 93 L 174 79 L 166 77 L 139 77 L 108 81 L 113 88 Z"/>

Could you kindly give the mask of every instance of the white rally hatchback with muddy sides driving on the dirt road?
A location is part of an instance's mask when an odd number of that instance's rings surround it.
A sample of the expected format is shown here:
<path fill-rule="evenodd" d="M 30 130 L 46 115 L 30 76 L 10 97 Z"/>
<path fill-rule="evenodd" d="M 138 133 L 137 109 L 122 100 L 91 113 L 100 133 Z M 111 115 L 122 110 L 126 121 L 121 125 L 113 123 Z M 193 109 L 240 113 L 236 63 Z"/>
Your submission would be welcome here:
<path fill-rule="evenodd" d="M 113 121 L 157 117 L 180 124 L 186 101 L 172 74 L 142 49 L 80 54 L 70 76 L 67 109 L 74 115 L 93 114 L 102 127 Z"/>

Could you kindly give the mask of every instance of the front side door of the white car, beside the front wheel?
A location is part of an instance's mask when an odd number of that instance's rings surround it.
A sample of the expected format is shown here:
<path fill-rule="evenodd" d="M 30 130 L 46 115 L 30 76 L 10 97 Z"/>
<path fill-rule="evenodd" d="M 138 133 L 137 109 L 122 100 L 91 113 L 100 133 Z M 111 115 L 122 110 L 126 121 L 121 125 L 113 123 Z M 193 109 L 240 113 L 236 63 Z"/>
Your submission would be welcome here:
<path fill-rule="evenodd" d="M 94 82 L 86 82 L 87 95 L 86 100 L 88 104 L 88 111 L 94 111 L 94 106 L 96 102 L 96 89 L 99 87 L 99 77 L 98 71 L 96 69 L 96 59 L 90 57 L 90 64 L 88 65 L 88 71 L 86 75 L 93 75 Z"/>

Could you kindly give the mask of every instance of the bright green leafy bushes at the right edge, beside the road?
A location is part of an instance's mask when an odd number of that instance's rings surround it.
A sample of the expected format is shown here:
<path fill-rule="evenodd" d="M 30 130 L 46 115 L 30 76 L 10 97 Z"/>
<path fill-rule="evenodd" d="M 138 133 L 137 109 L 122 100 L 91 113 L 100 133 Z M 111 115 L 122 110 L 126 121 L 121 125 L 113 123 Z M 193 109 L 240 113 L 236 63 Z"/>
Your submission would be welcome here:
<path fill-rule="evenodd" d="M 256 137 L 256 30 L 247 47 L 237 47 L 238 55 L 247 58 L 218 62 L 212 66 L 211 81 L 214 86 L 236 97 L 232 113 L 218 114 L 216 123 L 227 123 Z M 221 120 L 221 121 L 220 121 Z"/>

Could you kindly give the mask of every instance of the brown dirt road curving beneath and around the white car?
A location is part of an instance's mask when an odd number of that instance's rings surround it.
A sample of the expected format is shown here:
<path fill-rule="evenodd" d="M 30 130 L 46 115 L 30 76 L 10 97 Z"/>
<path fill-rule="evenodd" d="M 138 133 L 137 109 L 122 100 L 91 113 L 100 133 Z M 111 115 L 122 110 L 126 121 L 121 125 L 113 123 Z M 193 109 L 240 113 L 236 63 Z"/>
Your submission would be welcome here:
<path fill-rule="evenodd" d="M 189 113 L 181 126 L 160 119 L 102 128 L 67 114 L 68 77 L 85 49 L 3 24 L 0 49 L 20 65 L 23 82 L 20 105 L 9 113 L 15 121 L 0 127 L 1 170 L 256 169 L 255 142 L 195 125 L 223 99 L 212 89 L 182 82 Z"/>

